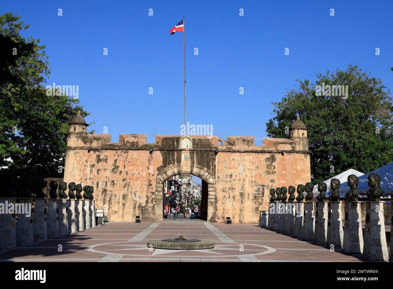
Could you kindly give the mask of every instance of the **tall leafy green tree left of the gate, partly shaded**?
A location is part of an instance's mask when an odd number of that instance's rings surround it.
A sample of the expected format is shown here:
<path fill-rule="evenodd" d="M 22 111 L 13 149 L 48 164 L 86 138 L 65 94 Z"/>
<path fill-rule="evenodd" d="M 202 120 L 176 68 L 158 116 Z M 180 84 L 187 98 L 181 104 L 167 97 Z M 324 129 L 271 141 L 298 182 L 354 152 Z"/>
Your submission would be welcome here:
<path fill-rule="evenodd" d="M 47 95 L 50 66 L 40 40 L 20 34 L 29 26 L 19 15 L 0 15 L 0 167 L 15 175 L 61 177 L 68 121 L 79 99 Z"/>

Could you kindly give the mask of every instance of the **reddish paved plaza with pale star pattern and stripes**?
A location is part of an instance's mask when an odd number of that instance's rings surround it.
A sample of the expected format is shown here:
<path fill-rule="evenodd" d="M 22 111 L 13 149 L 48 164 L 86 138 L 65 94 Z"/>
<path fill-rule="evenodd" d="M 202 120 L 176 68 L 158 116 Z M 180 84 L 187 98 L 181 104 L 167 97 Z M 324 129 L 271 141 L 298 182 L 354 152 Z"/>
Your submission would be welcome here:
<path fill-rule="evenodd" d="M 163 250 L 147 241 L 184 236 L 211 240 L 214 249 Z M 61 245 L 61 246 L 60 246 Z M 389 243 L 388 243 L 389 246 Z M 59 252 L 59 247 L 62 251 Z M 201 220 L 165 219 L 163 223 L 107 223 L 59 239 L 0 252 L 0 261 L 232 261 L 232 262 L 361 262 L 361 255 L 332 252 L 252 224 L 218 224 Z"/>

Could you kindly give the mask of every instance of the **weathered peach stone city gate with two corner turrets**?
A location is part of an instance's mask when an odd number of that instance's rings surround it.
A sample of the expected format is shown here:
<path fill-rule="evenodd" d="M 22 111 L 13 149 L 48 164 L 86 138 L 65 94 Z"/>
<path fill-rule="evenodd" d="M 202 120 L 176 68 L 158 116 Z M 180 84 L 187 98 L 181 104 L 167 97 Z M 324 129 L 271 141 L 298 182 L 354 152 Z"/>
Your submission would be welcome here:
<path fill-rule="evenodd" d="M 191 174 L 204 182 L 201 210 L 209 222 L 257 223 L 267 210 L 270 188 L 310 182 L 307 128 L 299 119 L 289 139 L 250 136 L 156 136 L 88 134 L 78 112 L 70 121 L 64 181 L 94 186 L 96 208 L 106 208 L 110 221 L 163 220 L 163 182 Z M 207 190 L 206 190 L 207 184 Z M 204 191 L 205 190 L 205 191 Z M 202 216 L 203 217 L 203 216 Z"/>

